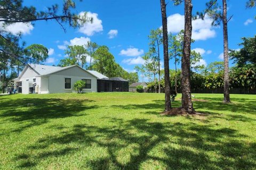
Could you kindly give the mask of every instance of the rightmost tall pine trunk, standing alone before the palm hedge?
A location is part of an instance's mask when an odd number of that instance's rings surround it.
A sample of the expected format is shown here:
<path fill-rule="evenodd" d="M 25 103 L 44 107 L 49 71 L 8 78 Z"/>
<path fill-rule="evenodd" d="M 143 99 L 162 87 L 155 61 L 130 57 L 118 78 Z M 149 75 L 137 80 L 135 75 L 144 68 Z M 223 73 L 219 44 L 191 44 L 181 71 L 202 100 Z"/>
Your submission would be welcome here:
<path fill-rule="evenodd" d="M 223 43 L 224 43 L 224 99 L 223 103 L 230 103 L 229 97 L 229 71 L 228 71 L 228 21 L 227 21 L 227 2 L 222 0 L 223 3 Z"/>

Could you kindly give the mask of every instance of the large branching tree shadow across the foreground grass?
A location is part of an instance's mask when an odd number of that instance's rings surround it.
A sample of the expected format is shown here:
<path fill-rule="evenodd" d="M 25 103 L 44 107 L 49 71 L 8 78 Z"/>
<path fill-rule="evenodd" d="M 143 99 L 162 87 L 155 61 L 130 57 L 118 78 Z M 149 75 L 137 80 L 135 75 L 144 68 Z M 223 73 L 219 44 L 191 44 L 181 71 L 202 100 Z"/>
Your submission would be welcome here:
<path fill-rule="evenodd" d="M 124 121 L 104 117 L 104 120 L 111 122 L 112 126 L 74 125 L 67 132 L 36 141 L 27 148 L 28 153 L 32 154 L 20 153 L 15 159 L 21 162 L 20 167 L 31 168 L 42 160 L 76 154 L 86 147 L 97 146 L 105 148 L 107 156 L 83 157 L 83 164 L 77 165 L 77 168 L 256 168 L 256 143 L 243 141 L 246 135 L 234 129 L 195 123 L 150 122 L 141 118 Z M 69 147 L 71 143 L 76 147 Z M 51 145 L 60 146 L 62 150 L 47 150 Z M 120 152 L 122 150 L 125 151 Z"/>

